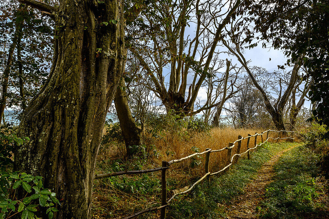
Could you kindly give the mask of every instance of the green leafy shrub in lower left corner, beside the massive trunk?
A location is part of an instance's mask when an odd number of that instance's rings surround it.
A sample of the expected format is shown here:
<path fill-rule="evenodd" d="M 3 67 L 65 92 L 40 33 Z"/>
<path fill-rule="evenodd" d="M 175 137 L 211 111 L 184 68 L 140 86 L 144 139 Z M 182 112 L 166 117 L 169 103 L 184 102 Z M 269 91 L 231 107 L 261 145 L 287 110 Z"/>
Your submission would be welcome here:
<path fill-rule="evenodd" d="M 12 129 L 0 132 L 0 218 L 9 214 L 21 213 L 22 219 L 37 218 L 35 212 L 41 207 L 47 208 L 49 219 L 58 211 L 55 204 L 60 205 L 56 194 L 43 186 L 42 177 L 31 174 L 11 172 L 14 145 L 22 145 L 30 139 L 18 138 L 11 133 Z M 23 199 L 17 199 L 15 193 L 26 192 Z"/>

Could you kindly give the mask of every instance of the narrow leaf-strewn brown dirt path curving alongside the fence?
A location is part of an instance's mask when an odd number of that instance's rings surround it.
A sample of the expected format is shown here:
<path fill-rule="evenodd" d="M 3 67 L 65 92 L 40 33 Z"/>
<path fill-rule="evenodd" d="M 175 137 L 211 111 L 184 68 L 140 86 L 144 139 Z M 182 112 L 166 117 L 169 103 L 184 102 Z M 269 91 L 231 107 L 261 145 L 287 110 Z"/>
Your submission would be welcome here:
<path fill-rule="evenodd" d="M 286 151 L 291 150 L 288 148 L 284 151 L 281 151 L 274 155 L 268 162 L 266 162 L 261 170 L 258 172 L 258 175 L 252 180 L 246 187 L 243 189 L 246 194 L 238 196 L 233 200 L 231 205 L 227 206 L 226 218 L 257 218 L 256 207 L 258 203 L 262 200 L 262 196 L 265 194 L 266 186 L 272 182 L 272 178 L 275 174 L 273 171 L 273 166 Z"/>

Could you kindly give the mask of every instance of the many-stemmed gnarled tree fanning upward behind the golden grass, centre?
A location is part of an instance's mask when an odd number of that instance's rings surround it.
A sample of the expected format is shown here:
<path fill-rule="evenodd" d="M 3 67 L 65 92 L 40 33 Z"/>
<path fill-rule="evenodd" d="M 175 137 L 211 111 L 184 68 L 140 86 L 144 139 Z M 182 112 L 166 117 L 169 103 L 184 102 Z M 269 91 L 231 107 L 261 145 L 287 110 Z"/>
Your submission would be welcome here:
<path fill-rule="evenodd" d="M 217 46 L 240 0 L 161 0 L 150 4 L 152 13 L 142 14 L 143 26 L 129 31 L 131 38 L 138 39 L 131 41 L 129 50 L 147 72 L 150 88 L 167 112 L 195 114 L 198 92 L 207 85 L 205 79 L 213 76 L 211 69 L 224 67 Z M 187 36 L 190 24 L 195 27 L 194 37 Z"/>

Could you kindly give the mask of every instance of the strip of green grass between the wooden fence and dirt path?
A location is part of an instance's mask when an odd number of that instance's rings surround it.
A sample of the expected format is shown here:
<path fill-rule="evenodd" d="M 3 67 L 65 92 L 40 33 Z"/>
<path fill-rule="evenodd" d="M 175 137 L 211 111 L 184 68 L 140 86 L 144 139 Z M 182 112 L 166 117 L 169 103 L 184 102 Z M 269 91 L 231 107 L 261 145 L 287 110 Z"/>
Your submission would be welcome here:
<path fill-rule="evenodd" d="M 251 159 L 239 159 L 228 174 L 213 177 L 210 184 L 201 183 L 190 194 L 178 197 L 167 208 L 166 218 L 218 218 L 224 209 L 218 204 L 229 202 L 234 196 L 244 193 L 243 187 L 257 174 L 260 167 L 278 151 L 290 148 L 296 143 L 266 144 L 251 153 Z M 142 217 L 141 217 L 142 218 Z"/>

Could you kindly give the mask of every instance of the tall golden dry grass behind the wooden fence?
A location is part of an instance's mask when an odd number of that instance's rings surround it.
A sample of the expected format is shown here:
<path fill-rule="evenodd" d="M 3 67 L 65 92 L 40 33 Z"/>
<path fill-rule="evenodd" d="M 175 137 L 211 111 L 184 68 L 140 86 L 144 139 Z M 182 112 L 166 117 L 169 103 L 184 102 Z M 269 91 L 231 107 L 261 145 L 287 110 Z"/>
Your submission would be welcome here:
<path fill-rule="evenodd" d="M 234 128 L 213 128 L 209 133 L 194 133 L 189 138 L 182 138 L 179 133 L 167 133 L 164 137 L 158 139 L 155 142 L 156 149 L 158 150 L 159 156 L 153 161 L 156 166 L 161 166 L 163 160 L 169 161 L 173 159 L 179 159 L 186 157 L 196 151 L 202 152 L 207 148 L 212 150 L 218 150 L 225 148 L 230 142 L 234 142 L 238 139 L 238 136 L 247 137 L 248 134 L 254 135 L 255 133 L 261 133 L 262 129 L 234 129 Z M 268 137 L 277 138 L 277 132 L 270 132 Z M 266 134 L 263 135 L 264 141 L 266 140 Z M 250 138 L 249 147 L 253 148 L 255 137 Z M 257 136 L 257 144 L 261 142 L 261 137 Z M 271 142 L 271 140 L 269 140 Z M 237 145 L 237 144 L 236 144 Z M 247 139 L 242 140 L 240 152 L 247 150 Z M 232 150 L 232 155 L 236 154 L 237 147 Z M 252 153 L 252 151 L 251 151 Z M 189 172 L 190 178 L 204 175 L 204 154 L 200 155 L 197 159 L 200 161 L 200 165 L 197 167 L 194 165 L 191 168 L 191 162 L 193 159 L 185 160 L 178 164 L 173 164 L 169 173 L 178 175 L 186 174 Z M 227 163 L 227 150 L 214 152 L 210 154 L 209 171 L 216 172 L 222 167 L 226 166 Z M 175 173 L 173 173 L 175 172 Z"/>

